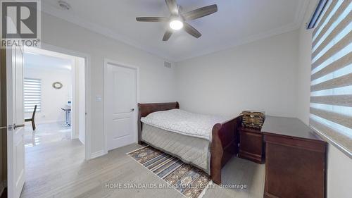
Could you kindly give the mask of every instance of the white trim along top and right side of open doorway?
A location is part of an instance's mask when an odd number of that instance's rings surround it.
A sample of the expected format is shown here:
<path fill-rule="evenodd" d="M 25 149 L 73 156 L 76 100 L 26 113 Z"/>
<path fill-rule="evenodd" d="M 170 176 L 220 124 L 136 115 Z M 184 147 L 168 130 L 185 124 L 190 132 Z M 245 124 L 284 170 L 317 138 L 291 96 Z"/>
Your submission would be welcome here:
<path fill-rule="evenodd" d="M 40 49 L 45 49 L 49 51 L 56 51 L 61 54 L 68 54 L 71 56 L 78 56 L 80 58 L 84 58 L 84 73 L 85 73 L 85 94 L 86 94 L 86 120 L 85 120 L 85 159 L 93 159 L 95 156 L 92 155 L 92 128 L 91 128 L 91 120 L 92 120 L 92 104 L 91 104 L 91 88 L 92 88 L 92 78 L 91 78 L 91 56 L 89 54 L 84 54 L 79 51 L 73 51 L 70 49 L 65 49 L 62 47 L 56 47 L 51 44 L 46 44 L 44 42 L 41 42 L 41 47 Z"/>

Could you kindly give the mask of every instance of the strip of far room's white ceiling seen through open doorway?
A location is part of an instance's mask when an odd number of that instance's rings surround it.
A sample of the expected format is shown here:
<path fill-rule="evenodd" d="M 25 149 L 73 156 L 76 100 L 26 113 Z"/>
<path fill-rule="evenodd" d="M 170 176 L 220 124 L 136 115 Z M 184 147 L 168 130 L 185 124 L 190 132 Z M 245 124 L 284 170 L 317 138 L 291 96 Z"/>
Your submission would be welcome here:
<path fill-rule="evenodd" d="M 25 51 L 24 63 L 25 69 L 35 68 L 41 70 L 71 70 L 72 61 L 66 58 L 47 56 Z"/>

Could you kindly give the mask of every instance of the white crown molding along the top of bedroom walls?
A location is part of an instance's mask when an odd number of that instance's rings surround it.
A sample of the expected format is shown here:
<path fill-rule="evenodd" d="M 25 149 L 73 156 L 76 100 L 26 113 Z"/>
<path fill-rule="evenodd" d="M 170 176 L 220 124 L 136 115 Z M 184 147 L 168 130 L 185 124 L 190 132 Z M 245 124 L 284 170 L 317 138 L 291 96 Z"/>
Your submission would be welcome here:
<path fill-rule="evenodd" d="M 303 23 L 303 18 L 304 18 L 304 15 L 306 13 L 306 9 L 307 9 L 308 3 L 309 3 L 308 0 L 298 0 L 298 1 L 299 2 L 298 2 L 298 6 L 296 8 L 296 13 L 294 16 L 293 23 L 289 23 L 288 25 L 283 25 L 282 27 L 277 27 L 277 28 L 269 30 L 267 32 L 262 32 L 257 35 L 252 35 L 250 37 L 240 39 L 236 42 L 230 42 L 230 43 L 227 43 L 227 44 L 222 45 L 220 47 L 215 47 L 215 48 L 213 47 L 213 49 L 210 49 L 210 50 L 207 49 L 207 50 L 203 50 L 203 51 L 198 51 L 197 53 L 192 54 L 191 56 L 183 56 L 183 57 L 178 57 L 178 58 L 175 58 L 173 56 L 165 54 L 162 51 L 153 50 L 150 47 L 146 47 L 143 44 L 140 44 L 139 42 L 135 42 L 134 40 L 132 40 L 128 37 L 125 37 L 124 35 L 120 35 L 120 34 L 118 34 L 118 32 L 114 32 L 113 30 L 111 30 L 109 28 L 101 27 L 101 25 L 97 25 L 96 23 L 92 23 L 87 20 L 84 20 L 78 16 L 75 16 L 73 13 L 68 13 L 67 11 L 62 11 L 62 10 L 55 8 L 54 6 L 51 6 L 49 4 L 42 4 L 42 11 L 44 13 L 51 15 L 51 16 L 55 16 L 57 18 L 61 18 L 63 20 L 66 20 L 69 23 L 73 23 L 73 24 L 78 25 L 80 27 L 84 27 L 85 29 L 91 30 L 92 32 L 96 32 L 96 33 L 103 35 L 105 37 L 115 39 L 118 42 L 122 42 L 124 44 L 130 45 L 132 47 L 135 47 L 137 49 L 145 51 L 153 56 L 157 56 L 158 58 L 164 59 L 165 61 L 177 63 L 180 61 L 185 61 L 190 58 L 195 58 L 197 56 L 204 56 L 206 54 L 212 54 L 217 51 L 231 49 L 233 47 L 238 47 L 243 44 L 256 42 L 260 39 L 273 37 L 275 35 L 281 35 L 285 32 L 291 32 L 294 30 L 298 30 L 299 27 L 301 27 L 301 24 Z"/>

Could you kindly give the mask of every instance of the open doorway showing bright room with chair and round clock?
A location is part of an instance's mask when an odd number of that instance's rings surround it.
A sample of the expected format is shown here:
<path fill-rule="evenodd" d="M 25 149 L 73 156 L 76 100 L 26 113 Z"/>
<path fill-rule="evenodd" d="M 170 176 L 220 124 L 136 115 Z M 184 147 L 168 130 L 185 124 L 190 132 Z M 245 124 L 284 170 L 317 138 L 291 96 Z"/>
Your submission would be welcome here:
<path fill-rule="evenodd" d="M 85 159 L 84 64 L 84 58 L 55 51 L 36 48 L 23 51 L 22 197 L 33 195 L 35 181 L 52 174 L 63 175 L 72 163 L 82 163 Z M 55 185 L 50 182 L 49 185 Z"/>

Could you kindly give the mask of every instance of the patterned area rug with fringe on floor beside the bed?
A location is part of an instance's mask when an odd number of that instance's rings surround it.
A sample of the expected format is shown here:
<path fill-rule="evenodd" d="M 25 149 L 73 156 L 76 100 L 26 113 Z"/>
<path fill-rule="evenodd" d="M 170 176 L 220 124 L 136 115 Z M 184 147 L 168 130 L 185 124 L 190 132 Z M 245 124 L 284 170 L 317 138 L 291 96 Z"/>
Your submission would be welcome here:
<path fill-rule="evenodd" d="M 209 175 L 199 168 L 150 146 L 132 151 L 128 155 L 185 197 L 203 197 L 211 181 Z"/>

